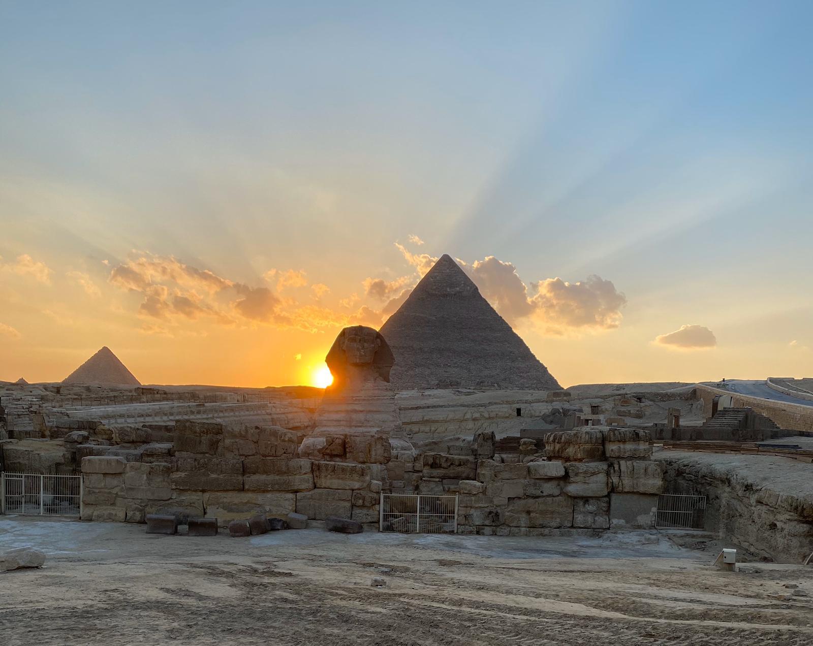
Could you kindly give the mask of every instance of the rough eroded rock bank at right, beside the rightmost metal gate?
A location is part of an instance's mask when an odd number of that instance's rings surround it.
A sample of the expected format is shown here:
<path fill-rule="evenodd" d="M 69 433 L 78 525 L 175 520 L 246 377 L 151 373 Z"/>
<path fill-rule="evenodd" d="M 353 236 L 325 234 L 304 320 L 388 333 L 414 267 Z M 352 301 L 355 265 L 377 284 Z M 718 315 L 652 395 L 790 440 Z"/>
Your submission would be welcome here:
<path fill-rule="evenodd" d="M 706 530 L 776 561 L 813 552 L 811 465 L 786 457 L 664 450 L 670 493 L 707 496 Z"/>

